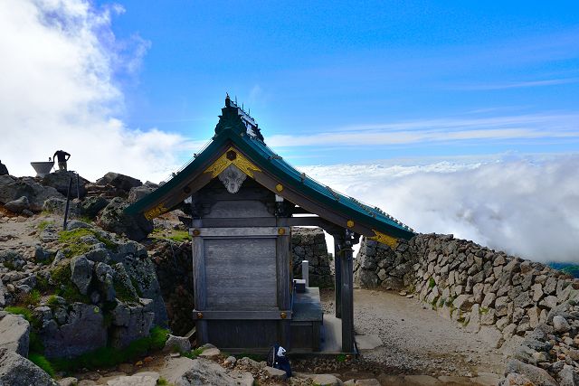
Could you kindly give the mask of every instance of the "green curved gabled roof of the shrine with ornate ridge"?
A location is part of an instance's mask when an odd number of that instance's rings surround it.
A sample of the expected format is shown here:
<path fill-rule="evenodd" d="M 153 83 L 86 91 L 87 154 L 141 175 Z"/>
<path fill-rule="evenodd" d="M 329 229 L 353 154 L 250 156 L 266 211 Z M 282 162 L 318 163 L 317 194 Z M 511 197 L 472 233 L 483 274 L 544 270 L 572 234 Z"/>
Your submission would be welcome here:
<path fill-rule="evenodd" d="M 261 129 L 255 120 L 245 113 L 242 108 L 239 108 L 229 97 L 225 99 L 225 107 L 222 108 L 222 115 L 215 127 L 215 135 L 211 143 L 200 154 L 195 155 L 195 159 L 174 175 L 171 180 L 166 182 L 166 184 L 162 184 L 156 191 L 149 193 L 138 202 L 130 205 L 126 212 L 150 213 L 153 211 L 154 215 L 152 217 L 155 217 L 162 212 L 168 212 L 173 209 L 176 204 L 182 202 L 182 199 L 172 203 L 173 201 L 168 200 L 168 197 L 175 194 L 183 195 L 182 191 L 190 195 L 191 192 L 187 192 L 187 188 L 184 186 L 199 177 L 199 175 L 206 173 L 207 166 L 211 165 L 216 157 L 223 155 L 223 149 L 227 150 L 227 146 L 237 148 L 252 164 L 257 165 L 262 171 L 275 176 L 283 186 L 299 192 L 302 196 L 318 202 L 318 204 L 334 212 L 343 213 L 344 216 L 355 223 L 364 224 L 365 228 L 375 231 L 376 236 L 379 233 L 384 233 L 390 237 L 408 240 L 414 235 L 411 228 L 386 214 L 380 208 L 366 205 L 353 197 L 338 193 L 329 186 L 318 183 L 289 165 L 280 155 L 274 153 L 265 144 Z M 252 174 L 249 175 L 252 176 Z M 283 193 L 278 194 L 283 196 Z M 168 202 L 168 204 L 164 205 L 163 202 Z M 299 202 L 294 203 L 299 204 Z M 155 208 L 157 208 L 157 212 L 154 211 Z M 321 213 L 315 214 L 321 217 Z M 338 225 L 343 226 L 345 224 Z M 366 234 L 366 236 L 368 235 Z"/>

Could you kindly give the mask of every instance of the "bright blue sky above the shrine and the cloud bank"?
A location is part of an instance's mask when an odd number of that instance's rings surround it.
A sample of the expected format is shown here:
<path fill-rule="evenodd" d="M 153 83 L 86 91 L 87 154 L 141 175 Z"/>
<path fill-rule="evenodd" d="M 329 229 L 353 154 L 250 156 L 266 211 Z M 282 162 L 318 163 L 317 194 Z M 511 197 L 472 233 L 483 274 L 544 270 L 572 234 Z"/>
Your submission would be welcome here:
<path fill-rule="evenodd" d="M 296 165 L 579 147 L 577 2 L 117 4 L 128 127 L 203 141 L 227 91 Z"/>

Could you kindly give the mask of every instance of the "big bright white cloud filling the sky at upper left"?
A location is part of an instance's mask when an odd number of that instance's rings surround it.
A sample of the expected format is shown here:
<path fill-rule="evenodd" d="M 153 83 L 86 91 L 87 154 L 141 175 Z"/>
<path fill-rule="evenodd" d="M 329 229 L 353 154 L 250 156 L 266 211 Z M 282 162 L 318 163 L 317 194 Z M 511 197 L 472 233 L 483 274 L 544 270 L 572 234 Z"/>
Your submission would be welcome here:
<path fill-rule="evenodd" d="M 0 2 L 0 159 L 11 174 L 33 175 L 31 161 L 55 150 L 91 180 L 108 171 L 159 181 L 191 143 L 155 128 L 127 127 L 116 75 L 132 76 L 149 43 L 112 33 L 118 5 L 87 0 Z"/>

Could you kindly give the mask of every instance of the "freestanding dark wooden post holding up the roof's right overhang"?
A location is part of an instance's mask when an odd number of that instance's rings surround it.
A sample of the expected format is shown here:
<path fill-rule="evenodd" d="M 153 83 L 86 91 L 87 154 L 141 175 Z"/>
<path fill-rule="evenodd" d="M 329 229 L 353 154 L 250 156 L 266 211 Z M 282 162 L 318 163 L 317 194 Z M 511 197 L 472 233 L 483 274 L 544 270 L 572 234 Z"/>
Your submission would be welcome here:
<path fill-rule="evenodd" d="M 340 250 L 341 306 L 342 306 L 342 352 L 354 353 L 354 273 L 352 245 L 344 243 Z"/>

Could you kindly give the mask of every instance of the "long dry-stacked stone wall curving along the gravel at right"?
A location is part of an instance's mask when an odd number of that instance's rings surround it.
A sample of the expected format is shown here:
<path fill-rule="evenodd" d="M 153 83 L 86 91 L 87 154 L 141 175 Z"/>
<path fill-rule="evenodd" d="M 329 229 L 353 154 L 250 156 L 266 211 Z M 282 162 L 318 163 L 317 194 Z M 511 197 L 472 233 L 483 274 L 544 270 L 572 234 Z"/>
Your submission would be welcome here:
<path fill-rule="evenodd" d="M 395 250 L 363 240 L 354 268 L 360 287 L 408 291 L 501 347 L 508 372 L 579 384 L 579 279 L 436 234 L 401 240 Z"/>

